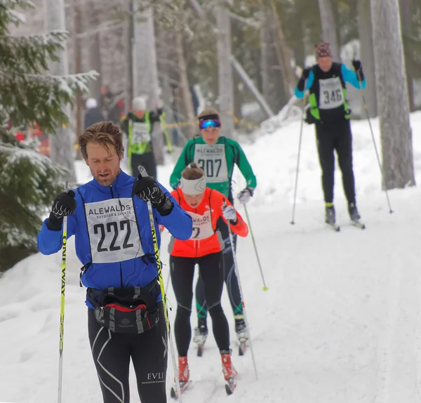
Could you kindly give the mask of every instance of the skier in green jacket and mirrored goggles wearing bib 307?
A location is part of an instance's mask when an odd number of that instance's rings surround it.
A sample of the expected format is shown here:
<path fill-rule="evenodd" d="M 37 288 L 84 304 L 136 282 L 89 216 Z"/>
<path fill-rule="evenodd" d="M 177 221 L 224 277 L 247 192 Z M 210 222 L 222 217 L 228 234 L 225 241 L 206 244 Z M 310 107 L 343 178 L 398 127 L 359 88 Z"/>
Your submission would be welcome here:
<path fill-rule="evenodd" d="M 176 189 L 180 184 L 181 173 L 186 166 L 196 162 L 204 171 L 206 176 L 206 185 L 210 189 L 218 190 L 234 204 L 232 195 L 232 173 L 234 164 L 236 164 L 244 178 L 246 178 L 246 188 L 238 194 L 239 201 L 246 204 L 256 187 L 256 177 L 253 169 L 248 163 L 246 154 L 241 146 L 234 140 L 220 136 L 221 121 L 218 111 L 213 109 L 203 110 L 198 116 L 199 129 L 201 136 L 196 136 L 189 140 L 180 154 L 175 164 L 174 171 L 171 174 L 170 185 Z M 235 319 L 235 331 L 240 343 L 247 340 L 246 323 L 244 322 L 243 307 L 241 305 L 241 296 L 239 283 L 235 274 L 234 257 L 232 254 L 232 245 L 229 241 L 229 232 L 227 224 L 219 220 L 218 229 L 225 242 L 224 256 L 224 277 L 227 284 L 229 300 L 232 305 Z M 234 248 L 236 235 L 234 234 Z M 203 292 L 203 283 L 201 278 L 196 284 L 196 308 L 198 316 L 198 326 L 195 329 L 194 341 L 203 345 L 208 335 L 207 326 L 207 308 L 206 298 Z"/>

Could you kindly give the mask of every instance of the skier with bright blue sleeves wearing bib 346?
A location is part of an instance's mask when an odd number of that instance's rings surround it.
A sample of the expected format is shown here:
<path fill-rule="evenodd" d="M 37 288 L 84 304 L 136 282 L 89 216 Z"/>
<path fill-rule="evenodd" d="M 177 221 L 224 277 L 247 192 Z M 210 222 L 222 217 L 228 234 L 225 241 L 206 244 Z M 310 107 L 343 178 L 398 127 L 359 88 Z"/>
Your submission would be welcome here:
<path fill-rule="evenodd" d="M 356 72 L 343 63 L 333 62 L 328 43 L 316 45 L 317 64 L 302 71 L 302 77 L 295 88 L 298 98 L 309 90 L 307 123 L 316 125 L 317 150 L 321 165 L 321 181 L 326 204 L 326 223 L 335 225 L 333 205 L 333 185 L 335 170 L 335 150 L 342 171 L 342 184 L 348 202 L 348 212 L 352 221 L 361 218 L 356 208 L 355 180 L 352 166 L 352 133 L 349 122 L 350 110 L 347 103 L 347 87 L 366 88 L 366 79 L 359 60 L 353 60 Z M 361 80 L 361 81 L 360 81 Z"/>

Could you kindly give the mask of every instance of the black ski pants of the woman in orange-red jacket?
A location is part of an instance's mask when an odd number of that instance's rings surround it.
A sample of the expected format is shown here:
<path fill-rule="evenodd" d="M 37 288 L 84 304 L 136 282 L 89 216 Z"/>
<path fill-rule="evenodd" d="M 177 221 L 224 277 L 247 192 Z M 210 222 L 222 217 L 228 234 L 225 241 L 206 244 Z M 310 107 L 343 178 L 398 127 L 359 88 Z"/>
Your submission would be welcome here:
<path fill-rule="evenodd" d="M 220 351 L 229 351 L 229 326 L 221 305 L 224 276 L 222 270 L 222 252 L 210 253 L 201 258 L 182 258 L 170 256 L 171 282 L 177 314 L 175 315 L 174 333 L 179 357 L 186 357 L 192 338 L 190 315 L 192 314 L 194 265 L 199 265 L 203 279 L 203 289 L 212 319 L 213 336 Z"/>

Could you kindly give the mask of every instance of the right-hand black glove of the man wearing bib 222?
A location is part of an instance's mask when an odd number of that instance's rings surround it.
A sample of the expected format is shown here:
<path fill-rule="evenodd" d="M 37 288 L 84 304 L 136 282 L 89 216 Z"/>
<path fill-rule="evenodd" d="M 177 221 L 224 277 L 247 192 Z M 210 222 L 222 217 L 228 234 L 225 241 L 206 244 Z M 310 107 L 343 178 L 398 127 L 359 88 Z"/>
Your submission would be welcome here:
<path fill-rule="evenodd" d="M 133 193 L 145 202 L 151 202 L 152 206 L 161 214 L 167 216 L 173 210 L 174 204 L 159 187 L 155 178 L 150 176 L 138 176 L 133 184 Z"/>

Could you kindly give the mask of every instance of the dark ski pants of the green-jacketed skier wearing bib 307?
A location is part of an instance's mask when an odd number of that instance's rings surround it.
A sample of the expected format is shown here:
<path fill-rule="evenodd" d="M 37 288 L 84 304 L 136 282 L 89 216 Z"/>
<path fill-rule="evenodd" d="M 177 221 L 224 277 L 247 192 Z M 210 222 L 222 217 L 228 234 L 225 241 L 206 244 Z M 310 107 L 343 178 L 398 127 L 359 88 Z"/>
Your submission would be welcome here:
<path fill-rule="evenodd" d="M 218 220 L 218 230 L 222 235 L 222 239 L 225 242 L 225 248 L 222 251 L 223 256 L 223 269 L 224 269 L 224 280 L 227 284 L 227 291 L 229 296 L 229 302 L 231 303 L 232 312 L 234 312 L 234 318 L 243 319 L 243 305 L 241 304 L 241 294 L 239 287 L 239 280 L 236 277 L 235 266 L 234 266 L 234 255 L 232 254 L 231 241 L 229 240 L 228 225 L 222 218 Z M 233 234 L 234 250 L 236 249 L 236 234 Z M 196 310 L 197 317 L 199 319 L 208 316 L 208 308 L 206 306 L 205 291 L 203 288 L 203 280 L 201 276 L 196 283 Z"/>

